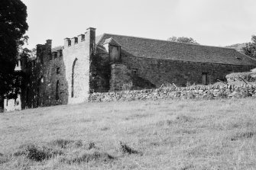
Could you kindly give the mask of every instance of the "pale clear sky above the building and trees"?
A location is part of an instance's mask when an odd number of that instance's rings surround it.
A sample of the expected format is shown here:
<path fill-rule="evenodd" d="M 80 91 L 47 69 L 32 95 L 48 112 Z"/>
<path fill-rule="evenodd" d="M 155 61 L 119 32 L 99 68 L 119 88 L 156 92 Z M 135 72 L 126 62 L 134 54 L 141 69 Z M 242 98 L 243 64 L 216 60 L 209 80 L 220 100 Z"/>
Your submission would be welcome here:
<path fill-rule="evenodd" d="M 256 34 L 255 0 L 21 0 L 28 7 L 28 47 L 63 45 L 95 27 L 109 33 L 167 40 L 192 37 L 209 46 L 245 43 Z"/>

